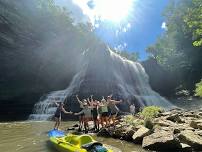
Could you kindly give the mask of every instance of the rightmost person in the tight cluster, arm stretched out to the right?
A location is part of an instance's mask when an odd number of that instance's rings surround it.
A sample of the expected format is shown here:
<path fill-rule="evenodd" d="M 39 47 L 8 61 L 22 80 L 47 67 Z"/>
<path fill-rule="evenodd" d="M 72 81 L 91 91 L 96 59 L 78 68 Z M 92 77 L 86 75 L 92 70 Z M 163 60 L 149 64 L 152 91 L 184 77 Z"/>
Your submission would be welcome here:
<path fill-rule="evenodd" d="M 122 100 L 120 101 L 116 101 L 116 100 L 112 100 L 112 95 L 107 97 L 107 103 L 108 103 L 108 107 L 110 109 L 110 121 L 112 121 L 113 126 L 115 127 L 115 120 L 116 120 L 116 116 L 119 113 L 119 108 L 116 106 L 116 104 L 119 104 L 122 102 Z"/>

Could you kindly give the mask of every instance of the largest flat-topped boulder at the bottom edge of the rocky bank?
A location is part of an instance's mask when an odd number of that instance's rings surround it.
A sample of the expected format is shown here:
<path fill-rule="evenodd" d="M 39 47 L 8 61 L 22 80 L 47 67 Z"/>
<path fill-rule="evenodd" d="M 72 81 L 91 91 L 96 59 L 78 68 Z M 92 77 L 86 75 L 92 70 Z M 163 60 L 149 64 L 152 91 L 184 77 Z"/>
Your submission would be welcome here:
<path fill-rule="evenodd" d="M 159 130 L 143 138 L 142 147 L 150 150 L 176 150 L 181 145 L 172 131 Z"/>

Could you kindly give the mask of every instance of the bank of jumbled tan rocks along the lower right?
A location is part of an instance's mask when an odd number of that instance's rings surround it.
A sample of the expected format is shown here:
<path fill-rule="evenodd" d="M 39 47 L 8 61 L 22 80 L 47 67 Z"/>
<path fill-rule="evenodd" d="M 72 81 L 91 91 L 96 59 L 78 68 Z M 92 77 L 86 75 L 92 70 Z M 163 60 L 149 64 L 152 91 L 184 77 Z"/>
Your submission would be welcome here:
<path fill-rule="evenodd" d="M 176 108 L 152 119 L 127 115 L 115 128 L 103 128 L 97 135 L 141 144 L 147 150 L 202 151 L 202 109 Z"/>

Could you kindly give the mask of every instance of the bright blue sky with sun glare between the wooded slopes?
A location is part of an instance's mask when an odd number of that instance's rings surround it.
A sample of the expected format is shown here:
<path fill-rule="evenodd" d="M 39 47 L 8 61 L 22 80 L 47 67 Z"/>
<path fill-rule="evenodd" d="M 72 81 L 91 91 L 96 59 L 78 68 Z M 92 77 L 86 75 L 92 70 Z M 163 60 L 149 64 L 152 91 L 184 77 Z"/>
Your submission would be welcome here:
<path fill-rule="evenodd" d="M 94 32 L 110 47 L 138 52 L 140 60 L 145 49 L 165 32 L 163 11 L 169 0 L 55 0 L 66 6 L 75 22 L 91 22 Z"/>

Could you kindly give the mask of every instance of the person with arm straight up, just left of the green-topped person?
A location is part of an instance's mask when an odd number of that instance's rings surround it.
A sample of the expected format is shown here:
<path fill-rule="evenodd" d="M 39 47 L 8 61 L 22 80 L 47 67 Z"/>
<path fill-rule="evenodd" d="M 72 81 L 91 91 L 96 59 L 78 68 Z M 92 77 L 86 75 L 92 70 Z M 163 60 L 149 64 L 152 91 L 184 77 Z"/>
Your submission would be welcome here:
<path fill-rule="evenodd" d="M 92 118 L 94 122 L 94 129 L 99 130 L 99 122 L 98 122 L 98 101 L 93 100 L 93 95 L 90 96 L 91 100 L 89 101 L 89 104 L 92 108 Z"/>

